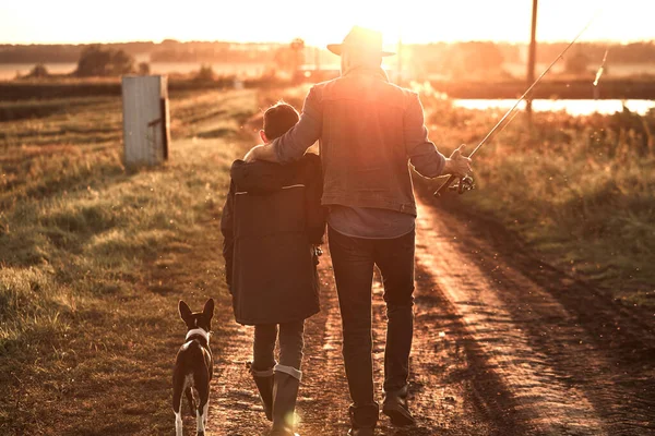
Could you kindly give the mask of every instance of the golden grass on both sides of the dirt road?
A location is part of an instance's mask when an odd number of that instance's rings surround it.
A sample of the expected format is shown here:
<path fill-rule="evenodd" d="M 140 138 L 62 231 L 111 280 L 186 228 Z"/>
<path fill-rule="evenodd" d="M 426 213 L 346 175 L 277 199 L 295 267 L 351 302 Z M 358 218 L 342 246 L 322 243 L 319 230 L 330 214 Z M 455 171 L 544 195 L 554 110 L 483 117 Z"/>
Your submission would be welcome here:
<path fill-rule="evenodd" d="M 140 170 L 121 164 L 120 98 L 0 104 L 0 434 L 170 432 L 177 300 L 229 298 L 228 166 L 260 108 L 300 107 L 305 92 L 174 94 L 170 161 Z M 422 99 L 443 152 L 501 116 Z M 479 190 L 461 202 L 549 263 L 652 305 L 654 117 L 540 113 L 532 134 L 516 119 L 476 158 Z M 217 316 L 215 329 L 231 325 Z"/>

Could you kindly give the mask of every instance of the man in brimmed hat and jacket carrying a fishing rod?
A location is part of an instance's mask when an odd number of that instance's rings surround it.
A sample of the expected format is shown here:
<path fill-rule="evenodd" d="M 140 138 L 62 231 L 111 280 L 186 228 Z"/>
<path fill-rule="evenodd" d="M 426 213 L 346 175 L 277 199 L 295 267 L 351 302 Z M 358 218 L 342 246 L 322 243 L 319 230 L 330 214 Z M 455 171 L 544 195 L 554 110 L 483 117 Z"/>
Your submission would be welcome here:
<path fill-rule="evenodd" d="M 354 27 L 343 44 L 342 75 L 314 85 L 300 121 L 285 135 L 252 148 L 246 160 L 288 162 L 320 140 L 322 204 L 329 207 L 329 242 L 343 323 L 343 355 L 353 404 L 348 435 L 373 435 L 374 400 L 371 287 L 377 265 L 384 284 L 388 329 L 382 412 L 410 425 L 407 408 L 414 329 L 416 203 L 408 162 L 424 177 L 464 175 L 462 147 L 450 158 L 428 140 L 418 95 L 389 83 L 381 69 L 382 35 Z"/>

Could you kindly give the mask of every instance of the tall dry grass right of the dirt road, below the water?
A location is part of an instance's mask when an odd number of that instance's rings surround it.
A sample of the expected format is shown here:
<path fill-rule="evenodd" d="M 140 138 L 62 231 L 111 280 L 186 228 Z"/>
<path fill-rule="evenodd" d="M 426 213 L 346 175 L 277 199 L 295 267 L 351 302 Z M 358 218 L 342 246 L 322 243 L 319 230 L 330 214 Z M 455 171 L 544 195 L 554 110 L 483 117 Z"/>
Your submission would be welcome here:
<path fill-rule="evenodd" d="M 430 137 L 471 152 L 503 111 L 464 110 L 422 89 Z M 655 111 L 522 116 L 474 160 L 474 214 L 631 304 L 655 305 Z"/>

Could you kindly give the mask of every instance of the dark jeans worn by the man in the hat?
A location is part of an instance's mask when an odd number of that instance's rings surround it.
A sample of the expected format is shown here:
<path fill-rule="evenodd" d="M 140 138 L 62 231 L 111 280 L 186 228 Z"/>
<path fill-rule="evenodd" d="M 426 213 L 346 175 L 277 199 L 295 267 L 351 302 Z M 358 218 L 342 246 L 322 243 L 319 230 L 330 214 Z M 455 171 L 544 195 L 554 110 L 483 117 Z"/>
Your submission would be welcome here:
<path fill-rule="evenodd" d="M 330 228 L 330 254 L 344 329 L 343 354 L 358 426 L 374 425 L 372 304 L 373 267 L 378 266 L 386 302 L 384 391 L 407 385 L 414 330 L 415 231 L 395 239 L 352 238 Z M 374 409 L 374 411 L 373 411 Z M 358 416 L 359 415 L 359 416 Z"/>

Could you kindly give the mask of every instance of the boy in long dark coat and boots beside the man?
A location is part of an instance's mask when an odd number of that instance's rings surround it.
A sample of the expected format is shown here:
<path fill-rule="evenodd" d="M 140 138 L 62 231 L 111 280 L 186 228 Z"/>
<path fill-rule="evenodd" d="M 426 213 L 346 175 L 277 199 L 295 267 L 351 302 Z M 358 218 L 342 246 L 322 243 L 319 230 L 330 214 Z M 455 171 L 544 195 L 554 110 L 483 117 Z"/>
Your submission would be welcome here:
<path fill-rule="evenodd" d="M 269 108 L 262 141 L 283 135 L 298 118 L 287 104 Z M 273 421 L 271 435 L 293 436 L 305 319 L 319 312 L 315 267 L 325 230 L 321 162 L 313 154 L 286 166 L 237 160 L 230 175 L 221 230 L 235 317 L 254 325 L 250 371 Z"/>

